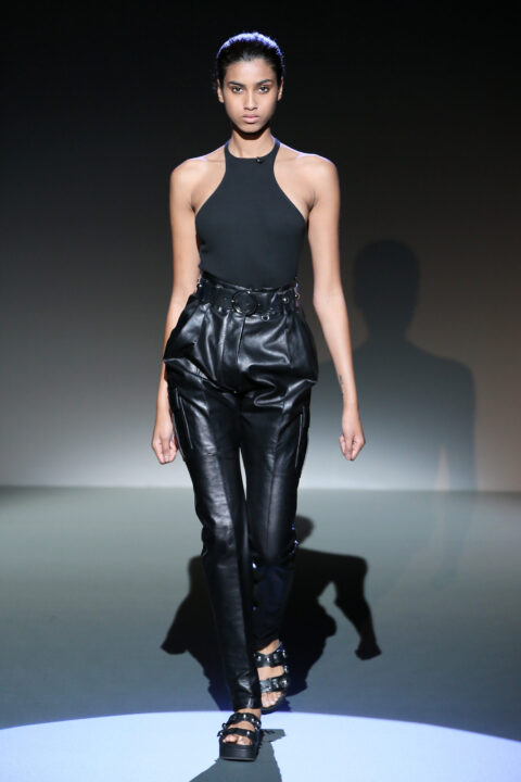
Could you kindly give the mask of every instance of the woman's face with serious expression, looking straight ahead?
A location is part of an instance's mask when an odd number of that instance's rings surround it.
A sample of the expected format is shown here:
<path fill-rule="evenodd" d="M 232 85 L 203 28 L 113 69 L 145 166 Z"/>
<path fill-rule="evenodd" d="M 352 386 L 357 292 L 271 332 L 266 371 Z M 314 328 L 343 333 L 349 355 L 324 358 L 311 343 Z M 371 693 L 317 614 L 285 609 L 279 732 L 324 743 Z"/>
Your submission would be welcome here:
<path fill-rule="evenodd" d="M 275 114 L 282 97 L 282 83 L 264 58 L 239 61 L 228 66 L 217 96 L 236 127 L 244 133 L 260 130 Z"/>

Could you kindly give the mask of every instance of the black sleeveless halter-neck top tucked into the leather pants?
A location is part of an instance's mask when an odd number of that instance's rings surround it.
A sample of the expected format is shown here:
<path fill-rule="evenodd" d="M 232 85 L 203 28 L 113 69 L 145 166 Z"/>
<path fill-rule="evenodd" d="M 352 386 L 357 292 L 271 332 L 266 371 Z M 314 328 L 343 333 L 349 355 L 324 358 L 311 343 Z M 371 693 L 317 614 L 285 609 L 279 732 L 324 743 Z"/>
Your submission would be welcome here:
<path fill-rule="evenodd" d="M 291 283 L 307 220 L 275 178 L 280 141 L 258 157 L 237 157 L 228 144 L 225 175 L 195 214 L 199 268 L 252 288 Z"/>

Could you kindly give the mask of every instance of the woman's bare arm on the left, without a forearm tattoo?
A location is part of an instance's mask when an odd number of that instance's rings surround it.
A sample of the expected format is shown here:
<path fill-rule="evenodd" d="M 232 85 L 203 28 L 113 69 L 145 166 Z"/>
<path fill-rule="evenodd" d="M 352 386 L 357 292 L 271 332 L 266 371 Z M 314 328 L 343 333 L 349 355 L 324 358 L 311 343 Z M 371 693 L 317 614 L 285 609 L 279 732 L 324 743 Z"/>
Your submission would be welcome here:
<path fill-rule="evenodd" d="M 196 243 L 195 216 L 191 204 L 191 193 L 199 173 L 199 162 L 188 160 L 174 168 L 170 175 L 169 213 L 174 279 L 170 302 L 166 313 L 162 356 L 168 337 L 177 324 L 188 297 L 195 290 L 199 279 L 200 255 Z M 168 387 L 165 366 L 162 361 L 156 400 L 156 420 L 152 438 L 152 449 L 161 464 L 171 462 L 176 456 L 177 446 L 173 436 L 174 427 L 168 403 Z"/>

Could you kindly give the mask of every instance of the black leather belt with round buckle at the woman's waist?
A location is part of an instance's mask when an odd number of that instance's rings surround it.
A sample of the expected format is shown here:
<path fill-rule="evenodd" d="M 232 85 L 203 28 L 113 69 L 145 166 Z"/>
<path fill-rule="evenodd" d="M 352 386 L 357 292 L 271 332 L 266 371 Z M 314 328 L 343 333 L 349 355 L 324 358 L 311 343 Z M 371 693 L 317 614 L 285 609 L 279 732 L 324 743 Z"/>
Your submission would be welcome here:
<path fill-rule="evenodd" d="M 240 315 L 259 315 L 268 319 L 270 315 L 293 310 L 298 293 L 291 287 L 280 292 L 257 291 L 247 288 L 225 288 L 201 277 L 195 295 L 202 301 L 209 301 L 223 310 L 233 310 Z"/>

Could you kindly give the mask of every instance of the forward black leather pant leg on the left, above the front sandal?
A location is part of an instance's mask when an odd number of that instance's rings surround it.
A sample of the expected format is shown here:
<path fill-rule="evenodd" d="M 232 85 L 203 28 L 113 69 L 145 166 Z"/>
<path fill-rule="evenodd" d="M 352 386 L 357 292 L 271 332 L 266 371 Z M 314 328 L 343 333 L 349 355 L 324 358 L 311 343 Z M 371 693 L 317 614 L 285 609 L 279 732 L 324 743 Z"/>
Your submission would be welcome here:
<path fill-rule="evenodd" d="M 169 367 L 176 434 L 202 522 L 201 553 L 233 709 L 260 708 L 253 661 L 252 575 L 234 394 Z"/>

